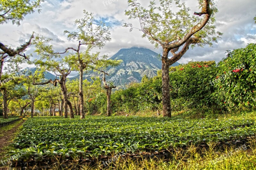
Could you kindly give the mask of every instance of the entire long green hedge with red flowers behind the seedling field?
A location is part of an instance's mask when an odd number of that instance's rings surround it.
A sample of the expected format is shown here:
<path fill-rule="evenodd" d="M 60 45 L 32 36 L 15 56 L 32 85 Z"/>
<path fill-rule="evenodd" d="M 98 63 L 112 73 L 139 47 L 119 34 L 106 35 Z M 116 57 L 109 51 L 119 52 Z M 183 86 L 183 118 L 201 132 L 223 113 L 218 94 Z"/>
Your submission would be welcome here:
<path fill-rule="evenodd" d="M 227 51 L 216 65 L 210 62 L 189 62 L 170 68 L 171 105 L 173 112 L 214 116 L 236 110 L 252 110 L 256 104 L 256 44 Z M 113 113 L 136 113 L 161 110 L 161 71 L 154 78 L 132 83 L 111 96 Z M 104 93 L 87 101 L 90 113 L 104 114 Z"/>

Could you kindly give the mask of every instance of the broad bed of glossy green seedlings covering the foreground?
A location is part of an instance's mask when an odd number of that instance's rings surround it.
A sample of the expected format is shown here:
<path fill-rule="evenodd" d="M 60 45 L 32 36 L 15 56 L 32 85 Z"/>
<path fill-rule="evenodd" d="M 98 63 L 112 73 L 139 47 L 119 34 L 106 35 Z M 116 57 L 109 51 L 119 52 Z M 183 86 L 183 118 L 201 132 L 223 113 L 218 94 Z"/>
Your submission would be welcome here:
<path fill-rule="evenodd" d="M 18 163 L 26 163 L 53 158 L 108 160 L 120 152 L 130 156 L 163 155 L 167 150 L 186 148 L 190 144 L 204 147 L 210 141 L 243 144 L 255 132 L 255 119 L 250 116 L 221 120 L 136 116 L 87 116 L 84 120 L 78 117 L 41 117 L 24 123 L 12 144 L 16 150 L 10 151 L 9 156 L 19 155 Z"/>

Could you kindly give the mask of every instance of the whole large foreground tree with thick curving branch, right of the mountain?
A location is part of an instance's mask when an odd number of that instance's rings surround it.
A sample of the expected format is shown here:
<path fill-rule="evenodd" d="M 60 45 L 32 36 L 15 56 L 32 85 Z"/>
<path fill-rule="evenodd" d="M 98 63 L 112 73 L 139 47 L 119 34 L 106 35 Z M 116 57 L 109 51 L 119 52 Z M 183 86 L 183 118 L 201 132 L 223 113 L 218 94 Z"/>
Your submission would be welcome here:
<path fill-rule="evenodd" d="M 217 42 L 222 33 L 217 32 L 217 37 L 214 37 L 216 34 L 214 14 L 218 10 L 211 0 L 198 0 L 201 12 L 194 13 L 198 15 L 197 17 L 190 16 L 190 9 L 179 0 L 159 1 L 159 7 L 154 1 L 150 1 L 149 9 L 146 9 L 137 0 L 128 0 L 132 9 L 125 11 L 125 15 L 129 16 L 129 19 L 139 20 L 139 30 L 143 32 L 142 38 L 147 37 L 156 48 L 159 46 L 163 48 L 163 116 L 171 117 L 169 67 L 188 51 L 191 44 L 192 48 L 196 44 L 200 47 L 206 44 L 212 46 L 212 42 Z M 171 11 L 173 3 L 179 8 L 177 12 Z M 202 15 L 204 18 L 200 19 Z M 124 24 L 124 27 L 131 27 L 130 31 L 134 28 L 132 24 Z M 170 52 L 173 56 L 168 58 Z"/>

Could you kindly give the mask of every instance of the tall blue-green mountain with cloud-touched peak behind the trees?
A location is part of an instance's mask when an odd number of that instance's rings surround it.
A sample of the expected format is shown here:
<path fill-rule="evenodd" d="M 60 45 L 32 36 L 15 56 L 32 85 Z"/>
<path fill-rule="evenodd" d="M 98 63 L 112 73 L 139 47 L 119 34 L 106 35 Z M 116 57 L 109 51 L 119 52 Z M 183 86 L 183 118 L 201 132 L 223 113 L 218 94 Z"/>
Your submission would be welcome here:
<path fill-rule="evenodd" d="M 133 47 L 120 49 L 109 59 L 123 60 L 123 63 L 117 67 L 107 68 L 106 72 L 110 76 L 107 76 L 106 80 L 113 82 L 116 86 L 124 86 L 131 82 L 140 82 L 144 75 L 152 78 L 157 75 L 157 70 L 162 68 L 160 58 L 161 55 L 146 48 Z M 180 65 L 180 63 L 176 62 L 172 66 L 177 65 Z M 84 79 L 91 80 L 91 77 L 97 76 L 99 76 L 97 73 L 89 71 L 84 74 Z M 70 79 L 79 79 L 79 76 Z"/>

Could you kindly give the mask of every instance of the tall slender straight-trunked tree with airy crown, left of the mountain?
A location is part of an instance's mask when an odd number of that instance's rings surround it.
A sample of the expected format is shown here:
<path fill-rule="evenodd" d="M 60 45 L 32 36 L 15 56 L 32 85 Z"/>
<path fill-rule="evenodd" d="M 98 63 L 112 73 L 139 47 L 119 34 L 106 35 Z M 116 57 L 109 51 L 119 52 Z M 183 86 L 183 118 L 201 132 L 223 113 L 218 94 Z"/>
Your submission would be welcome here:
<path fill-rule="evenodd" d="M 65 34 L 68 34 L 68 40 L 75 40 L 78 41 L 77 48 L 68 47 L 66 48 L 66 52 L 68 50 L 73 50 L 76 55 L 73 55 L 71 62 L 76 65 L 79 71 L 79 101 L 80 101 L 80 112 L 81 112 L 81 119 L 84 119 L 84 94 L 83 94 L 83 75 L 84 70 L 88 68 L 89 64 L 94 64 L 97 61 L 95 55 L 88 55 L 91 48 L 98 47 L 102 48 L 105 46 L 107 41 L 110 41 L 110 29 L 111 27 L 106 26 L 105 23 L 102 21 L 95 22 L 93 13 L 89 13 L 84 11 L 84 18 L 77 19 L 75 21 L 77 25 L 77 30 L 70 32 L 64 31 Z M 87 46 L 86 51 L 82 54 L 81 46 Z M 59 54 L 64 54 L 59 53 Z M 99 54 L 99 53 L 98 53 Z M 98 55 L 96 54 L 96 55 Z M 90 57 L 92 56 L 92 58 Z M 93 60 L 94 59 L 94 60 Z M 96 59 L 96 61 L 95 61 Z"/>

